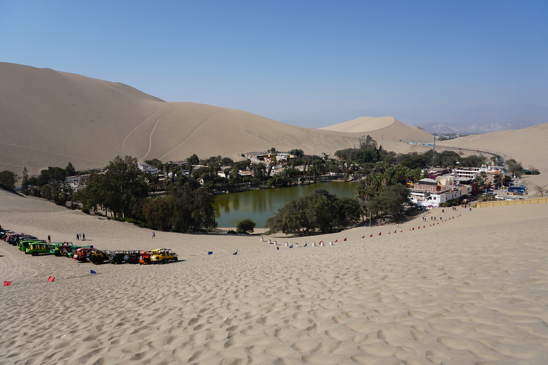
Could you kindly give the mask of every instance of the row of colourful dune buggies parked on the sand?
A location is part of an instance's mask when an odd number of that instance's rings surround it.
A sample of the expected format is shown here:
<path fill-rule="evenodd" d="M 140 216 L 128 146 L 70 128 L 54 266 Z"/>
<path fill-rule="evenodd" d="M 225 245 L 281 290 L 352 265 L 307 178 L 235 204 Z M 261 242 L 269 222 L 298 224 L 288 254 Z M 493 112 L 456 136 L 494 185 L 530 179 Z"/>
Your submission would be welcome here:
<path fill-rule="evenodd" d="M 19 251 L 37 256 L 38 254 L 54 254 L 55 256 L 70 257 L 79 262 L 91 262 L 100 265 L 104 262 L 111 264 L 165 264 L 169 261 L 178 261 L 177 254 L 168 248 L 158 248 L 152 251 L 103 251 L 93 246 L 76 246 L 72 242 L 48 243 L 38 237 L 26 233 L 14 233 L 7 229 L 0 229 L 0 239 Z"/>

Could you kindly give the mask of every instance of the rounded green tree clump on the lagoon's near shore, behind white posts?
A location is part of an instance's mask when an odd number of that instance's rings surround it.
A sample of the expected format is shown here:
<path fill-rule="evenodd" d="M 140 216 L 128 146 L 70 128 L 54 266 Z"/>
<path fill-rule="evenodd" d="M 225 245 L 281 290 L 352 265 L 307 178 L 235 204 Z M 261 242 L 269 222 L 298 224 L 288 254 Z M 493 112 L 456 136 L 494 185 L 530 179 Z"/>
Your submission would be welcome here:
<path fill-rule="evenodd" d="M 307 196 L 297 196 L 266 220 L 266 234 L 283 232 L 306 236 L 329 233 L 333 225 L 346 225 L 359 219 L 356 199 L 337 198 L 325 189 L 316 189 Z"/>

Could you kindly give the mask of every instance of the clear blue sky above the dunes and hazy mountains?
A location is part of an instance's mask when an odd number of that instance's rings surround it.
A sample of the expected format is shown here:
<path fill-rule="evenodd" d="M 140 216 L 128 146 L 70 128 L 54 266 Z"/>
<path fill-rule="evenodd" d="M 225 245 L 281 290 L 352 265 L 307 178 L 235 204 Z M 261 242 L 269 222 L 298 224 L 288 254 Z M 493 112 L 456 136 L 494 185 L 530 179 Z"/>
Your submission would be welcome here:
<path fill-rule="evenodd" d="M 427 123 L 548 107 L 547 18 L 546 1 L 0 0 L 0 61 L 276 120 Z"/>

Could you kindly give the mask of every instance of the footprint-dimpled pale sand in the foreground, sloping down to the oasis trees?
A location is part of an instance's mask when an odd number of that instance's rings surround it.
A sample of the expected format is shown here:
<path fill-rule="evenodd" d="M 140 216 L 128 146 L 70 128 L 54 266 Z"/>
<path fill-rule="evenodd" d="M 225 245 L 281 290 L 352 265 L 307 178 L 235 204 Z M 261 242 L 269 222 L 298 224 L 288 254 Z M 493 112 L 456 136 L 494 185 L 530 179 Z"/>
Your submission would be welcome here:
<path fill-rule="evenodd" d="M 548 204 L 436 209 L 427 222 L 417 218 L 401 228 L 264 236 L 308 243 L 276 250 L 258 235 L 159 232 L 152 241 L 148 229 L 4 190 L 0 202 L 4 228 L 50 234 L 52 241 L 73 241 L 82 232 L 98 248 L 167 247 L 184 259 L 92 265 L 27 256 L 0 241 L 0 277 L 13 281 L 0 301 L 0 364 L 548 358 Z M 430 215 L 444 221 L 431 226 Z M 334 246 L 311 247 L 336 239 Z"/>

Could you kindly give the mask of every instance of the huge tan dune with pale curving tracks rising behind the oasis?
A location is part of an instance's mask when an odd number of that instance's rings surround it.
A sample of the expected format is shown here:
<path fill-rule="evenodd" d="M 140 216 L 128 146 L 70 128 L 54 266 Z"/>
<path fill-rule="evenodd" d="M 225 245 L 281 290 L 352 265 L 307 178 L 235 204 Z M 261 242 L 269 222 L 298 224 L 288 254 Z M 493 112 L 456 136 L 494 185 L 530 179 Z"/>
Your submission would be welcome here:
<path fill-rule="evenodd" d="M 196 153 L 237 160 L 270 147 L 333 155 L 356 146 L 363 135 L 301 128 L 237 109 L 165 102 L 121 83 L 5 62 L 0 62 L 0 110 L 0 170 L 19 175 L 24 166 L 33 175 L 68 161 L 77 169 L 102 168 L 116 155 L 179 161 Z M 408 128 L 387 126 L 385 140 L 414 138 L 408 132 L 415 127 L 399 124 Z M 382 131 L 377 130 L 379 141 Z"/>

